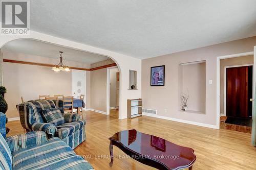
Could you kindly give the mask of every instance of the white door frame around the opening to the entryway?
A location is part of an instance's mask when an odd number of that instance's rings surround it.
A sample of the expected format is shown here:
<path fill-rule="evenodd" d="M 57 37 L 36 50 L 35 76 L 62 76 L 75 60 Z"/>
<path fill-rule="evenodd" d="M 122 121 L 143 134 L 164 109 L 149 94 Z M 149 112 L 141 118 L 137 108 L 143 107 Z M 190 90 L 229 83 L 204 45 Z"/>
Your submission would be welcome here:
<path fill-rule="evenodd" d="M 237 53 L 237 54 L 231 54 L 231 55 L 225 55 L 225 56 L 217 56 L 217 81 L 216 81 L 216 101 L 217 101 L 217 105 L 216 105 L 216 128 L 220 129 L 220 60 L 221 59 L 227 59 L 227 58 L 234 58 L 234 57 L 243 57 L 243 56 L 251 56 L 253 55 L 253 63 L 256 62 L 256 56 L 254 56 L 254 52 L 245 52 L 245 53 Z M 254 75 L 255 75 L 255 69 L 252 68 L 252 98 L 254 99 L 254 85 L 255 85 L 255 79 L 254 79 Z M 252 106 L 254 104 L 252 103 Z"/>

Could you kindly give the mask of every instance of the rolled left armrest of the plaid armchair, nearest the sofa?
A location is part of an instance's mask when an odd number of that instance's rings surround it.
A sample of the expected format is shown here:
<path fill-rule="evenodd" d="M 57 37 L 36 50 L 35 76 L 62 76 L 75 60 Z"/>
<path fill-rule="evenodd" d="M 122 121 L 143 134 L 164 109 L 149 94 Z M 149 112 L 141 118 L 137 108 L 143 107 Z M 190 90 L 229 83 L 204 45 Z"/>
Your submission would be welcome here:
<path fill-rule="evenodd" d="M 55 132 L 57 131 L 57 128 L 53 124 L 35 122 L 32 124 L 31 130 L 32 131 L 43 131 L 50 136 L 54 136 Z"/>

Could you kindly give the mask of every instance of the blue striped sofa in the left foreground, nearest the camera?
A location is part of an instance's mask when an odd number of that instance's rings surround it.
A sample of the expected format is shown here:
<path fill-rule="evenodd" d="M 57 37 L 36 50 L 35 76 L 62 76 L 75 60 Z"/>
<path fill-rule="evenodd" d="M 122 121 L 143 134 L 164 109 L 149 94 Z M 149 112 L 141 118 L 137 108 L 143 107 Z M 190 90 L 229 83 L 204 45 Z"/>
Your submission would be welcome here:
<path fill-rule="evenodd" d="M 3 123 L 5 114 L 0 118 Z M 4 138 L 5 127 L 0 130 L 0 169 L 93 169 L 58 137 L 48 140 L 45 132 L 33 131 Z"/>

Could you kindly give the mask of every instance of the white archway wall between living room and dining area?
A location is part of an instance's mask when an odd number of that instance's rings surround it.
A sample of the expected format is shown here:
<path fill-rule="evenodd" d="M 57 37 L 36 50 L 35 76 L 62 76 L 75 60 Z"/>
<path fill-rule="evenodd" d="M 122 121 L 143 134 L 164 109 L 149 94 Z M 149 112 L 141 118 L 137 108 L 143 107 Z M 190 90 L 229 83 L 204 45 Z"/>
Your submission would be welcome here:
<path fill-rule="evenodd" d="M 118 65 L 120 71 L 120 102 L 119 102 L 119 118 L 123 119 L 127 117 L 127 99 L 137 99 L 141 98 L 141 60 L 133 58 L 131 56 L 126 56 L 123 54 L 115 53 L 112 51 L 104 50 L 102 48 L 70 41 L 63 38 L 58 38 L 50 36 L 47 34 L 42 34 L 35 31 L 30 31 L 30 35 L 13 35 L 13 36 L 2 36 L 0 39 L 0 48 L 8 43 L 9 41 L 20 39 L 20 38 L 30 38 L 34 40 L 44 41 L 53 43 L 55 45 L 62 45 L 65 47 L 75 48 L 81 51 L 87 51 L 91 53 L 96 53 L 112 58 Z M 137 90 L 128 90 L 129 89 L 129 70 L 137 71 Z"/>

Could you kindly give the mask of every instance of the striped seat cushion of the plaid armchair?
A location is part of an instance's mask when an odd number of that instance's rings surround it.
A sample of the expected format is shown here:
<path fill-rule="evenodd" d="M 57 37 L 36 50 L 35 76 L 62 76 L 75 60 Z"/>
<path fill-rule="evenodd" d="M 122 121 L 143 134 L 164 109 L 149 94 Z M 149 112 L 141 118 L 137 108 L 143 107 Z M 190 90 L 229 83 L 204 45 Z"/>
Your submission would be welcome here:
<path fill-rule="evenodd" d="M 65 123 L 60 126 L 57 126 L 57 132 L 55 135 L 60 139 L 63 139 L 78 129 L 82 128 L 86 124 L 85 120 L 78 120 L 76 122 Z"/>

